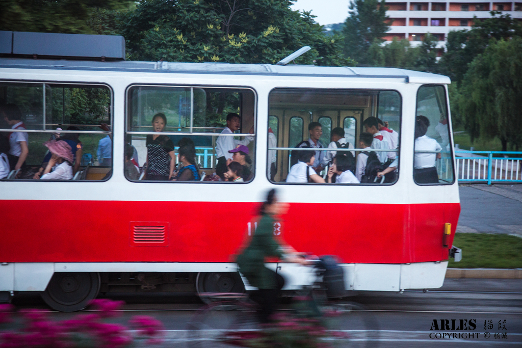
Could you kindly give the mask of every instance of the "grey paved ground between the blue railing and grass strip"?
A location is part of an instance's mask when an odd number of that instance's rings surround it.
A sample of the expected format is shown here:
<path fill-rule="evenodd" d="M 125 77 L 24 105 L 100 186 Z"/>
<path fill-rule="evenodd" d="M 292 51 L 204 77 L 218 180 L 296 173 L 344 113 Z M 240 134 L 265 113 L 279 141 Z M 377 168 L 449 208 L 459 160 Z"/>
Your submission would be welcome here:
<path fill-rule="evenodd" d="M 522 185 L 461 185 L 457 232 L 522 236 Z"/>

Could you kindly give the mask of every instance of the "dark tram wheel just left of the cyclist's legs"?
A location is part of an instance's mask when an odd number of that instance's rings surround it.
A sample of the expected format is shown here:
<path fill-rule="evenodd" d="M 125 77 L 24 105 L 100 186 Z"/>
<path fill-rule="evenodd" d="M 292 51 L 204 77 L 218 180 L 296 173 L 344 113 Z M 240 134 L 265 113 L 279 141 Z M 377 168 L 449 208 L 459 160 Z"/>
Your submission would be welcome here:
<path fill-rule="evenodd" d="M 196 291 L 201 293 L 244 293 L 245 285 L 239 272 L 199 272 L 196 278 Z M 199 296 L 201 301 L 211 304 L 222 299 Z"/>

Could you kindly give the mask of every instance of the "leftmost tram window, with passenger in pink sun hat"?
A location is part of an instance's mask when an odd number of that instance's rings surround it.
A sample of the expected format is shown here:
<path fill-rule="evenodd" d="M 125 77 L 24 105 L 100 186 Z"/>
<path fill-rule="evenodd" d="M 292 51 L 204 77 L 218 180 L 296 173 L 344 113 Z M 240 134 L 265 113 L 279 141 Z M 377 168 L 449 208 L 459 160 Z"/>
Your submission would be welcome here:
<path fill-rule="evenodd" d="M 0 129 L 8 130 L 0 136 L 11 140 L 9 174 L 0 178 L 108 179 L 112 173 L 111 100 L 111 90 L 101 85 L 0 82 Z M 13 128 L 27 131 L 11 133 Z M 49 140 L 63 140 L 66 145 L 44 145 Z M 55 160 L 53 153 L 64 156 Z"/>

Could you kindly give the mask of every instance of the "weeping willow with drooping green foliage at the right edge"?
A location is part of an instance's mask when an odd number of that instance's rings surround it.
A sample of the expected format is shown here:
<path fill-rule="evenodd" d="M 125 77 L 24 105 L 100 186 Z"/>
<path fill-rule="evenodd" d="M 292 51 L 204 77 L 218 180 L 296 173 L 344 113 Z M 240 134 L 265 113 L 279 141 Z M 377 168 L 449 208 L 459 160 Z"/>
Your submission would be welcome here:
<path fill-rule="evenodd" d="M 459 111 L 471 140 L 499 137 L 502 151 L 522 145 L 522 38 L 492 39 L 462 80 Z"/>

